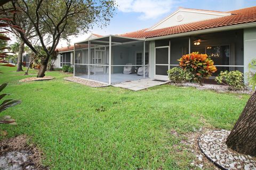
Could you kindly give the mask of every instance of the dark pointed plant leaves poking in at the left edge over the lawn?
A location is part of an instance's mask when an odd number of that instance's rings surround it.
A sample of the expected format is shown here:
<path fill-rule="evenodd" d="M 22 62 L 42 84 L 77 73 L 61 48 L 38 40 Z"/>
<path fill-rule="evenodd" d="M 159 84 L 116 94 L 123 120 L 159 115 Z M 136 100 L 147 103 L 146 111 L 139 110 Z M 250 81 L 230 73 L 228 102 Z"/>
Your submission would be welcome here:
<path fill-rule="evenodd" d="M 0 92 L 7 86 L 7 83 L 4 83 L 0 86 Z M 0 100 L 4 98 L 8 94 L 1 94 L 0 95 Z M 0 104 L 0 113 L 5 111 L 7 108 L 15 106 L 20 104 L 20 100 L 13 100 L 13 99 L 7 99 L 4 100 L 2 104 Z M 11 118 L 11 116 L 3 116 L 0 117 L 0 124 L 11 124 L 11 125 L 16 125 L 17 123 L 15 122 L 14 119 Z M 7 132 L 0 130 L 0 135 L 6 135 Z"/>

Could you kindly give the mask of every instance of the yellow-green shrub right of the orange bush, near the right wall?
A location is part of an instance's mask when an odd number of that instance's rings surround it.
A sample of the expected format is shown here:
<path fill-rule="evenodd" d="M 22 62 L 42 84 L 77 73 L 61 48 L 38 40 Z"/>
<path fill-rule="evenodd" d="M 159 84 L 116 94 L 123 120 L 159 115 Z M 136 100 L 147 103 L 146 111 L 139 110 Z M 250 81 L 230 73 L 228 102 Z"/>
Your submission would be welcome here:
<path fill-rule="evenodd" d="M 221 71 L 218 77 L 215 78 L 217 83 L 223 83 L 229 86 L 231 90 L 244 89 L 243 73 L 236 71 Z"/>

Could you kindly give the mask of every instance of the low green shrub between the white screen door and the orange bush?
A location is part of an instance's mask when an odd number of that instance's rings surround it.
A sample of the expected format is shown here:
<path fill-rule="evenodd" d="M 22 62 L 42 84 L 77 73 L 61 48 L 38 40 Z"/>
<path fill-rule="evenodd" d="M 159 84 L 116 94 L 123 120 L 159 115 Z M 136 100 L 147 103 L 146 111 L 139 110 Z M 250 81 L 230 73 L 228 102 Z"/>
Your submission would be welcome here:
<path fill-rule="evenodd" d="M 193 79 L 193 75 L 190 72 L 182 70 L 179 67 L 174 67 L 167 71 L 169 79 L 174 83 L 188 82 Z"/>

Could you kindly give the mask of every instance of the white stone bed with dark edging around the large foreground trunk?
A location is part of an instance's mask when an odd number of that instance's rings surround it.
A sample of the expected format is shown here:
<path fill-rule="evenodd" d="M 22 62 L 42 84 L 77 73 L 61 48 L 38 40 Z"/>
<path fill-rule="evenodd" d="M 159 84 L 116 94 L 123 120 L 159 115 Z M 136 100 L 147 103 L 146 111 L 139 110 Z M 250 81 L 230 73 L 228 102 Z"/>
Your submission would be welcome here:
<path fill-rule="evenodd" d="M 256 169 L 256 158 L 239 154 L 226 145 L 230 131 L 210 131 L 198 138 L 199 149 L 221 169 Z M 198 158 L 199 159 L 199 158 Z"/>

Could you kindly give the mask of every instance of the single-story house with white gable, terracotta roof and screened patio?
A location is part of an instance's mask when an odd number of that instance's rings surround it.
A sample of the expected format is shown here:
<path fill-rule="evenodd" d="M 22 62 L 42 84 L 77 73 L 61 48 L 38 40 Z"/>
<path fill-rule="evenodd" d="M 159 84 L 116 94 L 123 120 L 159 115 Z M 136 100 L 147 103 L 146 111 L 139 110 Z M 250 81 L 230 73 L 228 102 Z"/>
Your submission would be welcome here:
<path fill-rule="evenodd" d="M 150 28 L 92 35 L 59 51 L 58 66 L 73 65 L 75 77 L 107 84 L 167 80 L 167 70 L 191 52 L 211 56 L 218 69 L 212 79 L 224 70 L 246 73 L 256 57 L 256 6 L 229 12 L 179 8 Z"/>

